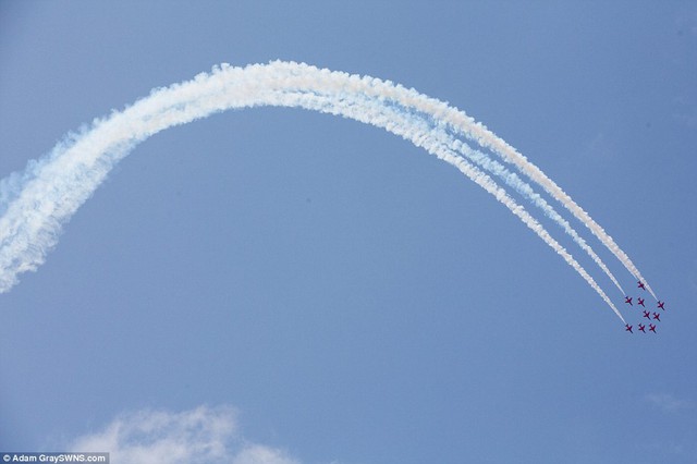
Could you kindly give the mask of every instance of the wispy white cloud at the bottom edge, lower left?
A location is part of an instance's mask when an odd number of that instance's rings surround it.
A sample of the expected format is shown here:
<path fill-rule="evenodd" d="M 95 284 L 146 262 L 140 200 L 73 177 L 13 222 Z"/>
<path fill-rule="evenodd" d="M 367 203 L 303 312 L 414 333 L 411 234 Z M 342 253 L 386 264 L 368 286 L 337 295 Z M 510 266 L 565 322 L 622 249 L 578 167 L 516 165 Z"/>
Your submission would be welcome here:
<path fill-rule="evenodd" d="M 282 450 L 244 440 L 229 406 L 122 414 L 70 448 L 109 452 L 114 464 L 299 464 Z"/>

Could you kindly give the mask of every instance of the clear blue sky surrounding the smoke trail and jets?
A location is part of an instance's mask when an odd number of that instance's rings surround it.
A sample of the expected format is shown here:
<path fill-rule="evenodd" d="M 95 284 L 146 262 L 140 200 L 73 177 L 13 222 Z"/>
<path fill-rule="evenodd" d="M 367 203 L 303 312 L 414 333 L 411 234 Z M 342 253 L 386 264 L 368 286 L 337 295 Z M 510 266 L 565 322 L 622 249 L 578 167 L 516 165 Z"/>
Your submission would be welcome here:
<path fill-rule="evenodd" d="M 140 144 L 0 295 L 0 449 L 136 462 L 137 434 L 110 430 L 156 417 L 150 462 L 176 442 L 228 462 L 697 462 L 696 50 L 692 2 L 0 1 L 1 178 L 154 87 L 304 61 L 467 111 L 668 302 L 657 335 L 629 335 L 424 150 L 225 112 Z"/>

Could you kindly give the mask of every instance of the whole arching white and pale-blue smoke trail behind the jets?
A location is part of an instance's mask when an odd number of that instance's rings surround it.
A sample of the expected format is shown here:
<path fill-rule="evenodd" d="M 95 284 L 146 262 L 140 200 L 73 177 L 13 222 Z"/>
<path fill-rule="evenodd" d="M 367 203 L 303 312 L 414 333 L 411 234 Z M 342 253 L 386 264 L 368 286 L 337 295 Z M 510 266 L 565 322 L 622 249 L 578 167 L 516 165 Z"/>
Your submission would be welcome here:
<path fill-rule="evenodd" d="M 305 108 L 339 114 L 383 127 L 425 148 L 506 206 L 562 256 L 622 319 L 588 272 L 482 169 L 559 223 L 621 289 L 590 246 L 529 184 L 487 152 L 475 150 L 456 137 L 464 135 L 480 144 L 482 149 L 513 162 L 562 202 L 634 276 L 644 280 L 612 239 L 561 188 L 464 112 L 391 82 L 276 61 L 246 68 L 224 64 L 215 68 L 210 74 L 203 73 L 192 81 L 155 89 L 125 110 L 95 120 L 89 127 L 69 135 L 50 154 L 29 162 L 24 172 L 0 181 L 0 292 L 12 288 L 17 282 L 17 274 L 35 270 L 44 262 L 46 254 L 58 242 L 62 224 L 139 142 L 168 127 L 216 112 L 257 106 Z"/>

